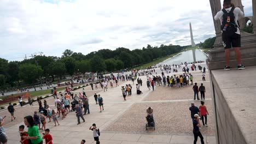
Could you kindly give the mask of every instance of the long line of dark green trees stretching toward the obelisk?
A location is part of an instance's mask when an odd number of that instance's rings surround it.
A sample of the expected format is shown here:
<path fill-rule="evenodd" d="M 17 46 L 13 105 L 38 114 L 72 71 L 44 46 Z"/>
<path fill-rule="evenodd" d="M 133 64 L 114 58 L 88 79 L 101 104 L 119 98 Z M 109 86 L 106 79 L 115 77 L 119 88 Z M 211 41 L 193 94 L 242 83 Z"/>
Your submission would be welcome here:
<path fill-rule="evenodd" d="M 129 50 L 119 47 L 115 50 L 102 49 L 83 55 L 81 52 L 65 50 L 61 57 L 34 55 L 23 61 L 11 61 L 0 58 L 0 91 L 10 87 L 19 87 L 20 82 L 35 86 L 39 78 L 63 78 L 65 75 L 73 76 L 77 73 L 101 73 L 122 69 L 131 69 L 171 55 L 186 48 L 179 45 L 160 45 L 143 47 L 142 49 Z"/>

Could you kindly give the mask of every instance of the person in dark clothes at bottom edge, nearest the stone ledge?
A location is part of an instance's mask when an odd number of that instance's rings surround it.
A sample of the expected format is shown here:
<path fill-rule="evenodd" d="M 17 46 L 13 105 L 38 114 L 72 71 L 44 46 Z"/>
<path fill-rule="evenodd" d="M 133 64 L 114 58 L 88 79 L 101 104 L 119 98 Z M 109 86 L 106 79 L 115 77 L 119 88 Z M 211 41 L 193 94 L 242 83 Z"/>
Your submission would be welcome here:
<path fill-rule="evenodd" d="M 203 136 L 199 130 L 199 127 L 201 127 L 200 118 L 201 117 L 198 114 L 194 115 L 194 119 L 193 119 L 194 144 L 196 144 L 198 137 L 200 137 L 201 144 L 205 143 L 203 141 Z"/>

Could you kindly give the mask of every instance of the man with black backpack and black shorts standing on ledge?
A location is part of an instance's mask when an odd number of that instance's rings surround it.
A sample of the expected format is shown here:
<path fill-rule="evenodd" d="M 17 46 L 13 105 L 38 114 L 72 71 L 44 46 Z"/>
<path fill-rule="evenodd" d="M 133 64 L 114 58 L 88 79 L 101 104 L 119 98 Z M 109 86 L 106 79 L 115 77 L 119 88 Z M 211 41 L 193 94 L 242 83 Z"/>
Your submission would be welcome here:
<path fill-rule="evenodd" d="M 230 70 L 230 48 L 234 47 L 236 53 L 237 69 L 245 69 L 241 62 L 241 35 L 238 27 L 238 17 L 244 17 L 240 8 L 235 8 L 231 0 L 223 1 L 223 9 L 220 10 L 215 20 L 220 20 L 222 23 L 222 41 L 225 49 L 226 66 L 224 70 Z"/>

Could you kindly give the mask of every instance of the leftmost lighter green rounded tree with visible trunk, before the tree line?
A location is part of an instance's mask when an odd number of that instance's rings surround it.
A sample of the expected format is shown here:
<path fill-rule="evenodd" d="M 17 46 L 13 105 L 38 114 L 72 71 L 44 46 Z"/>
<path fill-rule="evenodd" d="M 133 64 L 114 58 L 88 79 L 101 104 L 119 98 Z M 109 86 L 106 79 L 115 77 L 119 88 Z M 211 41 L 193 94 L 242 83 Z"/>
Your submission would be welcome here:
<path fill-rule="evenodd" d="M 19 67 L 19 76 L 24 82 L 34 87 L 36 91 L 35 83 L 37 79 L 43 74 L 43 70 L 40 66 L 34 64 L 21 64 Z"/>

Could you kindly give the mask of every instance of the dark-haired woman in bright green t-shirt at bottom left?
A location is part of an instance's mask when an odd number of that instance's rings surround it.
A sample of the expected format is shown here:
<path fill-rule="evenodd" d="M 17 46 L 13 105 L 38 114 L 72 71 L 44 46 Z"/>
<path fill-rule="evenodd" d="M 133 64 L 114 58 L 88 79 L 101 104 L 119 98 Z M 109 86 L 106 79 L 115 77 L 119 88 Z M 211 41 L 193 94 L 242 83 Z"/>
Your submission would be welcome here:
<path fill-rule="evenodd" d="M 38 127 L 34 124 L 34 120 L 32 116 L 24 117 L 24 123 L 27 125 L 28 136 L 22 136 L 24 139 L 29 139 L 32 144 L 43 144 L 42 136 L 39 133 Z"/>

